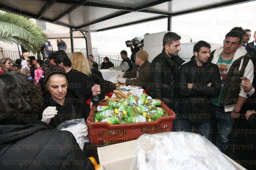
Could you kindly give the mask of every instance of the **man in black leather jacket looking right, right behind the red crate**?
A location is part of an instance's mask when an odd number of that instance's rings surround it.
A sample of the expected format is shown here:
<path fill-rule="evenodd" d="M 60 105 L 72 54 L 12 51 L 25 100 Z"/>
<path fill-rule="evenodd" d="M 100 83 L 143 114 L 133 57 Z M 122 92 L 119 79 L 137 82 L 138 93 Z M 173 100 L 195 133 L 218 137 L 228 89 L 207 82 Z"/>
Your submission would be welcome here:
<path fill-rule="evenodd" d="M 162 100 L 176 114 L 173 131 L 181 131 L 177 102 L 178 70 L 184 60 L 178 56 L 180 39 L 176 33 L 165 33 L 162 52 L 151 62 L 149 76 L 151 97 Z"/>

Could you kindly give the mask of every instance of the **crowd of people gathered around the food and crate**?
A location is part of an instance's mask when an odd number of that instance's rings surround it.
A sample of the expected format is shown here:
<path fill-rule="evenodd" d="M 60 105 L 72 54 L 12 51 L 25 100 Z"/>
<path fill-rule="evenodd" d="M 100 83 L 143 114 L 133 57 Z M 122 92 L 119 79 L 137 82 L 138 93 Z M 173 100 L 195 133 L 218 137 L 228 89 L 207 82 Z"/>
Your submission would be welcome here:
<path fill-rule="evenodd" d="M 236 145 L 237 161 L 248 169 L 255 169 L 256 134 L 244 133 L 246 129 L 256 130 L 256 93 L 253 88 L 256 33 L 254 42 L 249 43 L 250 36 L 251 30 L 234 27 L 225 35 L 223 46 L 212 52 L 209 43 L 199 41 L 187 63 L 178 56 L 182 50 L 181 36 L 176 33 L 165 33 L 162 52 L 151 63 L 148 61 L 150 54 L 137 50 L 140 42 L 134 38 L 131 59 L 122 50 L 120 66 L 114 67 L 105 57 L 100 69 L 122 70 L 118 82 L 141 86 L 152 98 L 162 100 L 176 114 L 173 131 L 198 133 L 224 153 Z M 27 60 L 17 62 L 21 65 L 20 71 L 13 69 L 11 59 L 0 59 L 0 84 L 3 87 L 0 88 L 0 144 L 6 149 L 5 159 L 11 159 L 10 154 L 17 155 L 15 149 L 9 148 L 22 142 L 39 143 L 40 148 L 49 142 L 77 146 L 69 132 L 58 132 L 53 128 L 66 120 L 86 120 L 90 109 L 85 101 L 90 99 L 98 103 L 116 89 L 115 84 L 103 79 L 93 55 L 87 58 L 81 52 L 74 52 L 68 57 L 62 41 L 58 42 L 59 51 L 49 53 L 44 61 L 29 56 Z M 87 135 L 87 127 L 81 135 Z M 232 135 L 236 136 L 235 140 L 231 140 Z M 51 140 L 53 137 L 55 140 Z M 240 146 L 252 147 L 239 149 Z M 22 152 L 28 152 L 28 149 Z M 36 157 L 43 152 L 47 149 L 31 152 L 30 157 L 35 161 L 43 159 L 42 167 L 50 166 L 46 165 L 45 158 Z M 56 149 L 52 152 L 48 161 L 56 159 Z M 91 166 L 78 148 L 66 148 L 62 154 L 58 158 L 66 158 L 69 163 L 73 158 L 85 160 L 77 165 L 78 169 Z M 18 158 L 12 157 L 13 160 Z M 245 159 L 252 163 L 246 164 Z M 65 166 L 75 167 L 74 164 Z"/>

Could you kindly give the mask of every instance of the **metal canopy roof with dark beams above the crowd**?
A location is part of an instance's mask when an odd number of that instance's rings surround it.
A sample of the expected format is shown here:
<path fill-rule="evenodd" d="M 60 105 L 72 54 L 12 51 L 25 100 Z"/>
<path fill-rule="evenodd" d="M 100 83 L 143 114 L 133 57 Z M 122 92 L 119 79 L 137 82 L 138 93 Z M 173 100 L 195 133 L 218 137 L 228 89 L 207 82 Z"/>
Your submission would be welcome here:
<path fill-rule="evenodd" d="M 253 0 L 0 0 L 0 10 L 97 32 Z"/>

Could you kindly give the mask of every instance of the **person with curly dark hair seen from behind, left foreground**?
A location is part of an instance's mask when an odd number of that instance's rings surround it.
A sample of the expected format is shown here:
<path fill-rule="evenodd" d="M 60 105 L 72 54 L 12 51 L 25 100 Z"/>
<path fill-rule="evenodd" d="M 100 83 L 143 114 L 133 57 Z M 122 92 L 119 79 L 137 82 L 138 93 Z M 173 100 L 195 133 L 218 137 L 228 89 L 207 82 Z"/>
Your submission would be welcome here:
<path fill-rule="evenodd" d="M 34 81 L 6 73 L 0 75 L 0 87 L 1 170 L 94 169 L 69 131 L 37 120 L 43 97 Z"/>

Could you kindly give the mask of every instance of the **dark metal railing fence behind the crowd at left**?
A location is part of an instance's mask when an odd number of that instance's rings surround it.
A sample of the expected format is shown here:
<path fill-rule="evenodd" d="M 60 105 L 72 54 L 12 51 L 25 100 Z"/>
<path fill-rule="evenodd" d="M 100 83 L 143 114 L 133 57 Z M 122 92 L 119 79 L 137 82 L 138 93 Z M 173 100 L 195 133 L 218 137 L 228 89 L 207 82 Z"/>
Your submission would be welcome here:
<path fill-rule="evenodd" d="M 82 52 L 86 56 L 86 52 Z M 13 62 L 16 61 L 18 58 L 23 58 L 22 52 L 19 51 L 10 51 L 10 50 L 3 50 L 2 54 L 4 58 L 10 58 Z M 66 51 L 66 54 L 70 57 L 72 54 L 69 51 Z M 28 56 L 34 56 L 37 60 L 41 59 L 43 60 L 44 57 L 47 57 L 46 52 L 37 52 L 37 54 L 34 54 L 32 52 L 28 53 Z M 109 58 L 109 61 L 111 61 L 114 66 L 119 66 L 122 62 L 122 58 L 120 55 L 104 55 L 104 54 L 94 54 L 94 61 L 99 64 L 99 68 L 101 67 L 101 63 L 103 63 L 103 59 L 105 57 Z"/>

